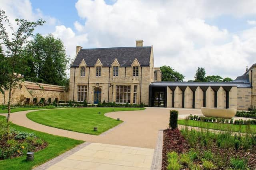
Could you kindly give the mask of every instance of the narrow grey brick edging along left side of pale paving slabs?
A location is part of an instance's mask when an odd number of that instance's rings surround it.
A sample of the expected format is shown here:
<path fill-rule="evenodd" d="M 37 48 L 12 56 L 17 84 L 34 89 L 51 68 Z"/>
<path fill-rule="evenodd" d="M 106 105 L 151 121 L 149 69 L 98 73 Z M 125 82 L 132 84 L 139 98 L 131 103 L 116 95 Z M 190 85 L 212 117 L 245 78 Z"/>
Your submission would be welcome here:
<path fill-rule="evenodd" d="M 86 147 L 87 145 L 89 145 L 89 142 L 85 142 L 82 143 L 80 145 L 78 145 L 77 147 L 74 147 L 73 149 L 68 150 L 67 152 L 64 152 L 63 154 L 53 158 L 52 160 L 49 160 L 47 162 L 45 162 L 44 164 L 34 168 L 33 170 L 46 170 L 47 168 L 49 168 L 50 166 L 53 166 L 54 164 L 56 164 L 57 162 L 60 162 L 61 160 L 67 158 L 68 156 L 70 156 L 71 154 L 77 152 L 78 150 Z"/>

